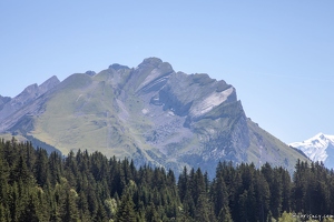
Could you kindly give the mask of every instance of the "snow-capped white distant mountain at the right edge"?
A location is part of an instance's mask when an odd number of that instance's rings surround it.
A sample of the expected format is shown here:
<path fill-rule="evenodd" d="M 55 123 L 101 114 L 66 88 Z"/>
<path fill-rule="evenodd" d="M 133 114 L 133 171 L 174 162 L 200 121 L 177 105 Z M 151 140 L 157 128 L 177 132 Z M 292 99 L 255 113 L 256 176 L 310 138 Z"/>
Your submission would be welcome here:
<path fill-rule="evenodd" d="M 322 161 L 326 168 L 334 169 L 334 135 L 318 133 L 308 140 L 289 145 L 302 150 L 312 161 Z"/>

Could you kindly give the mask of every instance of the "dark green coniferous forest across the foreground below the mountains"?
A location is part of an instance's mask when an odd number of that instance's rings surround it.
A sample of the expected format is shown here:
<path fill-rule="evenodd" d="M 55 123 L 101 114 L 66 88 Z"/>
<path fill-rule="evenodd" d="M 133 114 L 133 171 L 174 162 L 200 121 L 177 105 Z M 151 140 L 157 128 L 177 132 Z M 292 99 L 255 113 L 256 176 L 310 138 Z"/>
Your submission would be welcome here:
<path fill-rule="evenodd" d="M 334 172 L 297 162 L 291 175 L 268 163 L 219 162 L 216 176 L 100 152 L 50 154 L 0 141 L 0 221 L 334 221 Z"/>

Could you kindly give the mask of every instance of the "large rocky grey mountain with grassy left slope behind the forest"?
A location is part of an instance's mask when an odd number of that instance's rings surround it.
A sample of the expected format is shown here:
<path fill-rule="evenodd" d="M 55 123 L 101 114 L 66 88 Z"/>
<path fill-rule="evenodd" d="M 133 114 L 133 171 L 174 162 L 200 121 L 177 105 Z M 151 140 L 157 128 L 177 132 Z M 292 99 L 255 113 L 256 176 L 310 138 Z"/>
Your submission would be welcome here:
<path fill-rule="evenodd" d="M 65 154 L 87 149 L 177 171 L 200 167 L 210 175 L 224 160 L 291 171 L 297 159 L 307 160 L 248 119 L 233 85 L 175 72 L 158 58 L 75 73 L 13 110 L 1 120 L 1 133 L 30 137 Z"/>

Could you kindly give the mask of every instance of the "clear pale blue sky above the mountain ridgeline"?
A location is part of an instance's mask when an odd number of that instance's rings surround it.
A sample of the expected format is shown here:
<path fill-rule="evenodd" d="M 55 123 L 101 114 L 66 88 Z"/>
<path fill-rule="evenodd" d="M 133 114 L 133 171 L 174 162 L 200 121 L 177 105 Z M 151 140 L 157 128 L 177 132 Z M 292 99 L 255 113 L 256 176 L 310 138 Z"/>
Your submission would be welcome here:
<path fill-rule="evenodd" d="M 0 1 L 0 94 L 138 65 L 208 73 L 282 141 L 334 134 L 334 1 Z"/>

